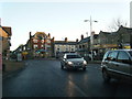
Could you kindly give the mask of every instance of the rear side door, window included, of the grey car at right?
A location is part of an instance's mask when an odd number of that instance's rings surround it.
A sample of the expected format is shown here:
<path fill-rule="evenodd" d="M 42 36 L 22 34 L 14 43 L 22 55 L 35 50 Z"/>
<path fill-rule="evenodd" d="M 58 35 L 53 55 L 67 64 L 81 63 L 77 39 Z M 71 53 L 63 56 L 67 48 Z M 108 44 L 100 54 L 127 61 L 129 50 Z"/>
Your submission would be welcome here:
<path fill-rule="evenodd" d="M 117 61 L 118 73 L 121 74 L 121 76 L 129 78 L 131 75 L 131 59 L 129 54 L 120 51 Z"/>

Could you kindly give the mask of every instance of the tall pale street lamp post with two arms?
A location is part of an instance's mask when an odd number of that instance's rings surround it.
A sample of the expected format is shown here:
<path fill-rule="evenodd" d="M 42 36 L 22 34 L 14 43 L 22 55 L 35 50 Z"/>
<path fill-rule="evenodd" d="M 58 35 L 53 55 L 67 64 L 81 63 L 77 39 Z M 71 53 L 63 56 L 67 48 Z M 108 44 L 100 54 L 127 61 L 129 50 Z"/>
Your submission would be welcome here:
<path fill-rule="evenodd" d="M 92 55 L 92 45 L 94 45 L 94 34 L 92 34 L 92 22 L 98 22 L 95 20 L 85 20 L 84 22 L 90 22 L 90 50 L 91 50 L 91 61 L 94 61 L 94 55 Z"/>

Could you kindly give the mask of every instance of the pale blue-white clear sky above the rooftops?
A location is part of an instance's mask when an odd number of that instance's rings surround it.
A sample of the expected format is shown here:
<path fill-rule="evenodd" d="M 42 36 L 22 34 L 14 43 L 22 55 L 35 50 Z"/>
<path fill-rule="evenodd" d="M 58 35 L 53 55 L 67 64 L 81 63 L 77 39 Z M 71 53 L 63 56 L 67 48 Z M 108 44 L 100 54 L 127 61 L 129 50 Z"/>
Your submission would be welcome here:
<path fill-rule="evenodd" d="M 80 35 L 90 35 L 90 22 L 92 31 L 109 32 L 113 19 L 121 19 L 130 24 L 131 0 L 1 0 L 0 18 L 2 26 L 12 28 L 11 51 L 20 44 L 25 44 L 29 33 L 51 33 L 55 41 L 68 37 L 69 41 L 80 40 Z"/>

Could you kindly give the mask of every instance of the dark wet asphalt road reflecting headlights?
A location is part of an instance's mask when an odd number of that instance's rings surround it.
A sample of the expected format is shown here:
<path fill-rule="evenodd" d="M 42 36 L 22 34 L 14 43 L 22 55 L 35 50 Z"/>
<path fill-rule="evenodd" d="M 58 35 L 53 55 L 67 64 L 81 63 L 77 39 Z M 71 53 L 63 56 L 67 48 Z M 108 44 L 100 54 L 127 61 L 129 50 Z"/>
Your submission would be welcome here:
<path fill-rule="evenodd" d="M 63 70 L 59 61 L 26 61 L 26 67 L 3 79 L 3 97 L 132 97 L 132 85 L 105 84 L 100 64 L 84 70 Z"/>

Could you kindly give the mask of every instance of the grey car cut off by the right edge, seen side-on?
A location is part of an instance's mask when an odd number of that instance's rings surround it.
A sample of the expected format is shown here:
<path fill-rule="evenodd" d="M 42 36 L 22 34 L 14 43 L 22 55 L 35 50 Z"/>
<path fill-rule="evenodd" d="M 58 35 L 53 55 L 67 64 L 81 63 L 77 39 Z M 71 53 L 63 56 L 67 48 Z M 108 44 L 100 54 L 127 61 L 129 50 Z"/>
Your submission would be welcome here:
<path fill-rule="evenodd" d="M 108 51 L 101 62 L 102 77 L 106 82 L 111 78 L 132 80 L 132 50 Z"/>

